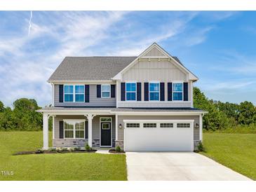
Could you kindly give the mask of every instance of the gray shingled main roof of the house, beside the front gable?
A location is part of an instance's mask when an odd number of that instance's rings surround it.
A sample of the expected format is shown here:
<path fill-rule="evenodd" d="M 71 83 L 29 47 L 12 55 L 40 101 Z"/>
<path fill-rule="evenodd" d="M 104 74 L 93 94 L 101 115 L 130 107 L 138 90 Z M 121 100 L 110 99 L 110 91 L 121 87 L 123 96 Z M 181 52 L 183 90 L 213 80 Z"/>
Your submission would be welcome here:
<path fill-rule="evenodd" d="M 48 81 L 109 81 L 136 58 L 65 57 Z"/>

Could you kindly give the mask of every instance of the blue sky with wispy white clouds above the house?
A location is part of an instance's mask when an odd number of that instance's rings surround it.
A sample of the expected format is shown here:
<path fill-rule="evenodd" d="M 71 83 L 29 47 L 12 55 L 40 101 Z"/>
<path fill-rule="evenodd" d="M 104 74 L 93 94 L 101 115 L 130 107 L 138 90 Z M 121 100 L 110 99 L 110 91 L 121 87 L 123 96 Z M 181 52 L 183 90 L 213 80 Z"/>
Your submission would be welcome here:
<path fill-rule="evenodd" d="M 65 56 L 139 55 L 153 42 L 222 102 L 256 104 L 256 12 L 0 11 L 0 100 L 50 104 L 46 83 Z"/>

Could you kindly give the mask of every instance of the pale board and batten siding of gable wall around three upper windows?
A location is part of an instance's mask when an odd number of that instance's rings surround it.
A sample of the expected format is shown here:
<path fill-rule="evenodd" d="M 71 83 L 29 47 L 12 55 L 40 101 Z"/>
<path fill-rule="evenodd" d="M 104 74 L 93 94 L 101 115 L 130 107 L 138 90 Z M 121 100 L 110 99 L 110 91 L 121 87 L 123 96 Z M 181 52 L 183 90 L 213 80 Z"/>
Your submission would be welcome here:
<path fill-rule="evenodd" d="M 127 102 L 121 101 L 120 91 L 118 92 L 118 107 L 192 107 L 191 105 L 191 86 L 192 82 L 187 81 L 188 74 L 177 67 L 172 60 L 168 59 L 142 59 L 137 61 L 133 67 L 122 74 L 121 81 L 134 81 L 142 83 L 141 101 Z M 144 82 L 163 82 L 165 83 L 165 101 L 144 101 Z M 168 101 L 168 83 L 169 82 L 188 82 L 188 101 Z M 121 82 L 117 82 L 121 90 Z"/>

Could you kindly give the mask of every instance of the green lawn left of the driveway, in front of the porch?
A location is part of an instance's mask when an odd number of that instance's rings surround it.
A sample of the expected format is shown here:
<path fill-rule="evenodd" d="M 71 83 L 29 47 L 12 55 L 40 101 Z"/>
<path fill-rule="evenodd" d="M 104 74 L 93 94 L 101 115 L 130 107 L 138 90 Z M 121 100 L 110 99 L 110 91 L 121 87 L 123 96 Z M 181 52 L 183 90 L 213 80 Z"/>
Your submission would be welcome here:
<path fill-rule="evenodd" d="M 52 139 L 50 146 L 51 142 Z M 127 180 L 125 155 L 56 153 L 12 156 L 14 152 L 36 150 L 42 145 L 43 132 L 0 132 L 0 180 Z M 3 170 L 14 174 L 4 176 Z"/>

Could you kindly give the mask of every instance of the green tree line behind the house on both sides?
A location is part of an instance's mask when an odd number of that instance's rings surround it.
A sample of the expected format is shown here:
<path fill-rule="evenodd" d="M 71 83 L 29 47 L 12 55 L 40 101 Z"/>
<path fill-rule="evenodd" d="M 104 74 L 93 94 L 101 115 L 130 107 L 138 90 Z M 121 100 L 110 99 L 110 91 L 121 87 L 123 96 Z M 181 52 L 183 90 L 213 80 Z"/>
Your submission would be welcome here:
<path fill-rule="evenodd" d="M 234 129 L 237 126 L 256 127 L 256 107 L 252 102 L 234 104 L 209 100 L 199 88 L 194 88 L 194 107 L 208 111 L 203 116 L 205 130 Z M 11 107 L 4 107 L 0 101 L 0 130 L 42 130 L 43 116 L 36 112 L 41 109 L 36 100 L 21 98 Z M 49 129 L 52 118 L 49 119 Z"/>

